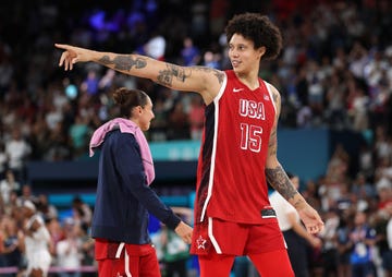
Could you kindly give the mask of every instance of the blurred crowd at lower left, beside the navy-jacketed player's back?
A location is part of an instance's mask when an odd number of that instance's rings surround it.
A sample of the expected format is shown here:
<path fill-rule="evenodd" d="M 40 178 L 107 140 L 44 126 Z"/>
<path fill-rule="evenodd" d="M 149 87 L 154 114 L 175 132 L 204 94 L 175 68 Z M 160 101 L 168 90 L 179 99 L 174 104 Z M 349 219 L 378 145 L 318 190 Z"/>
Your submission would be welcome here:
<path fill-rule="evenodd" d="M 61 218 L 46 194 L 36 195 L 30 185 L 15 181 L 12 172 L 8 172 L 8 184 L 13 190 L 5 191 L 7 182 L 1 181 L 0 275 L 25 276 L 30 263 L 26 238 L 32 236 L 28 234 L 26 222 L 33 215 L 42 218 L 42 226 L 50 234 L 49 243 L 42 244 L 44 251 L 52 257 L 49 276 L 96 276 L 95 243 L 89 236 L 93 208 L 75 195 L 68 216 Z M 33 208 L 26 205 L 28 202 Z M 26 207 L 32 208 L 33 213 L 27 214 Z"/>

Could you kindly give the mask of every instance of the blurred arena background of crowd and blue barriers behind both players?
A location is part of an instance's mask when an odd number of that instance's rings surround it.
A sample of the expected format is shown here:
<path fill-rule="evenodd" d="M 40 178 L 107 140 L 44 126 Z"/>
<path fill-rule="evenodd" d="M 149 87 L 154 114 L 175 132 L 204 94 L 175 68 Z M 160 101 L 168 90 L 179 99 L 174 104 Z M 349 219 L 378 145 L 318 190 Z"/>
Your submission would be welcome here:
<path fill-rule="evenodd" d="M 283 35 L 280 57 L 261 62 L 260 77 L 282 95 L 279 159 L 298 174 L 299 191 L 327 224 L 322 246 L 309 246 L 304 257 L 310 276 L 350 276 L 348 256 L 356 243 L 350 234 L 359 212 L 375 231 L 367 261 L 372 276 L 392 276 L 383 265 L 392 261 L 387 237 L 392 213 L 388 0 L 2 1 L 0 274 L 16 276 L 23 268 L 23 253 L 15 246 L 17 213 L 29 198 L 45 216 L 53 245 L 66 237 L 66 226 L 76 226 L 78 272 L 96 275 L 88 229 L 97 157 L 88 158 L 88 142 L 115 113 L 111 92 L 119 86 L 144 89 L 155 104 L 147 133 L 157 170 L 154 189 L 168 205 L 185 208 L 184 216 L 193 208 L 200 97 L 93 63 L 64 72 L 54 43 L 225 70 L 224 26 L 242 12 L 267 14 Z M 150 229 L 163 232 L 154 217 Z M 63 265 L 54 249 L 50 275 L 60 276 Z M 166 272 L 161 257 L 163 275 L 175 276 Z M 188 276 L 197 276 L 194 257 L 181 261 Z M 246 258 L 238 258 L 233 276 L 256 275 Z"/>

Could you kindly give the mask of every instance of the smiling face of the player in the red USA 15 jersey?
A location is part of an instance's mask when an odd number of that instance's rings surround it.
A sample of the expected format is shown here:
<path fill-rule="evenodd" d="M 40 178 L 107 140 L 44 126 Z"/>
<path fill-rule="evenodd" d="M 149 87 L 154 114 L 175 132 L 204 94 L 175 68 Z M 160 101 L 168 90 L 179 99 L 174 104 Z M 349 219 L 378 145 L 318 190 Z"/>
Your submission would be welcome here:
<path fill-rule="evenodd" d="M 229 41 L 229 58 L 236 73 L 246 74 L 259 68 L 262 47 L 254 48 L 254 43 L 240 34 L 234 34 Z"/>

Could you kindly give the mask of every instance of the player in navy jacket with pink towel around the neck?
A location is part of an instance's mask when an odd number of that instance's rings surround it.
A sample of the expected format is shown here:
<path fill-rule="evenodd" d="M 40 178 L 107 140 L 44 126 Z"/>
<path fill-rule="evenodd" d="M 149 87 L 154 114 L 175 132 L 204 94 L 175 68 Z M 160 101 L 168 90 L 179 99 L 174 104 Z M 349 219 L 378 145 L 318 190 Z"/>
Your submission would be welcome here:
<path fill-rule="evenodd" d="M 91 236 L 99 276 L 160 277 L 157 253 L 148 233 L 149 213 L 191 243 L 192 228 L 149 188 L 155 178 L 144 135 L 154 119 L 152 103 L 139 89 L 113 93 L 120 117 L 98 128 L 90 155 L 100 149 L 97 198 Z"/>

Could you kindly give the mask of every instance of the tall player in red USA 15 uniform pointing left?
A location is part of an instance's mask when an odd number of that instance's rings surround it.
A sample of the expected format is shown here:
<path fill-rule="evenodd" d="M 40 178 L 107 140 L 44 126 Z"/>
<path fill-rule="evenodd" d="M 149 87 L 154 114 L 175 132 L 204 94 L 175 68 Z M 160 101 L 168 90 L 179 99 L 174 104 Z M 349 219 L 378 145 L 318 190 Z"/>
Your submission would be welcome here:
<path fill-rule="evenodd" d="M 281 97 L 258 76 L 261 59 L 279 55 L 282 37 L 267 16 L 256 13 L 235 15 L 225 32 L 233 67 L 228 71 L 70 45 L 56 47 L 64 50 L 59 65 L 65 70 L 93 61 L 175 91 L 200 94 L 206 119 L 191 248 L 198 255 L 200 276 L 229 276 L 237 255 L 248 255 L 264 277 L 294 276 L 269 204 L 267 181 L 297 209 L 307 231 L 319 232 L 323 222 L 278 161 Z"/>

